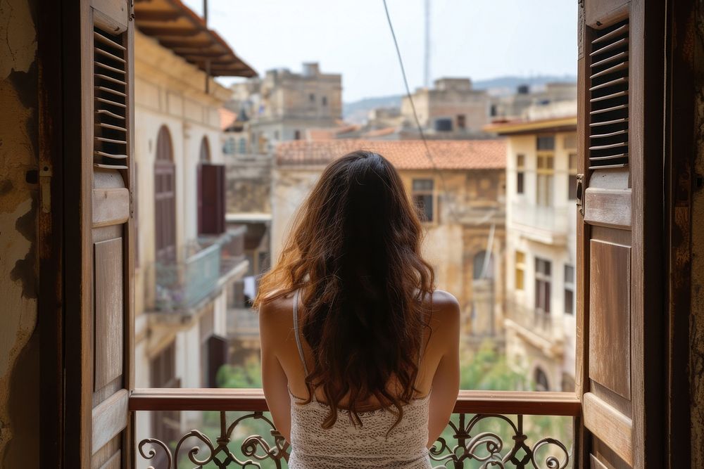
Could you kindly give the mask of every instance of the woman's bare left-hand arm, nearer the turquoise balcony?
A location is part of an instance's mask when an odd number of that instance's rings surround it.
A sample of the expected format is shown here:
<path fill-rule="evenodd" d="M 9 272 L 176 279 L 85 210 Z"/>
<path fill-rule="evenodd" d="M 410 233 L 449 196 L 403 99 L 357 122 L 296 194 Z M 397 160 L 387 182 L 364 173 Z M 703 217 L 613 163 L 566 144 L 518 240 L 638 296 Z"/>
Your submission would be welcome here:
<path fill-rule="evenodd" d="M 270 304 L 259 309 L 259 337 L 262 359 L 262 387 L 276 429 L 287 442 L 291 437 L 291 398 L 289 397 L 288 378 L 277 358 L 275 346 L 282 340 L 279 335 L 281 319 L 284 314 Z"/>

